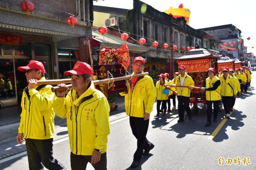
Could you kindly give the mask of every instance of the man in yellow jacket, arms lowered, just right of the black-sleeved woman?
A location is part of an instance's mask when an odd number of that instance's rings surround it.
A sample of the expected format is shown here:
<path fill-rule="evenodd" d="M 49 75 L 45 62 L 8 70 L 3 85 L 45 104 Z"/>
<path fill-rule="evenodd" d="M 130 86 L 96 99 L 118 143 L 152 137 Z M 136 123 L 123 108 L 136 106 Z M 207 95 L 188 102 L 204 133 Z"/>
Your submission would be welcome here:
<path fill-rule="evenodd" d="M 223 70 L 223 75 L 219 77 L 221 80 L 221 94 L 222 94 L 222 102 L 226 114 L 226 118 L 230 118 L 230 108 L 232 105 L 233 98 L 236 98 L 237 94 L 237 85 L 236 80 L 231 77 L 228 73 L 229 68 L 225 67 Z"/>

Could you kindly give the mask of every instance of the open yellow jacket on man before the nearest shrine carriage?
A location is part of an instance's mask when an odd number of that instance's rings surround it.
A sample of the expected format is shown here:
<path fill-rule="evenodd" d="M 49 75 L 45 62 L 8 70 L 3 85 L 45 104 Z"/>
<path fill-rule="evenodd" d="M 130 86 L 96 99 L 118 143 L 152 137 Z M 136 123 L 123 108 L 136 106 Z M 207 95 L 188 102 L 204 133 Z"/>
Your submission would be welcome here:
<path fill-rule="evenodd" d="M 184 85 L 183 86 L 195 86 L 195 82 L 192 79 L 192 77 L 190 77 L 189 75 L 187 75 L 186 73 L 183 76 L 184 78 Z M 180 85 L 180 82 L 182 81 L 182 77 L 181 75 L 178 75 L 175 79 L 175 85 Z M 186 96 L 186 97 L 190 97 L 190 88 L 183 88 L 181 90 L 181 87 L 176 87 L 177 89 L 177 96 Z"/>

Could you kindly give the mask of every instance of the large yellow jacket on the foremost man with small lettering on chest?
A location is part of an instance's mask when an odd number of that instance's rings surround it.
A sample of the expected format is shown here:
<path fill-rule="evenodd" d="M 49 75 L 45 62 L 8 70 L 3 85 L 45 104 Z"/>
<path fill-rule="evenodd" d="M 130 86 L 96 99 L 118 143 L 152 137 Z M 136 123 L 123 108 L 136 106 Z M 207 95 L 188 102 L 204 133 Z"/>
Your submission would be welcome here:
<path fill-rule="evenodd" d="M 67 118 L 70 150 L 76 155 L 92 155 L 94 149 L 107 151 L 109 104 L 107 98 L 94 88 L 93 83 L 79 98 L 71 89 L 66 98 L 56 97 L 56 112 Z"/>

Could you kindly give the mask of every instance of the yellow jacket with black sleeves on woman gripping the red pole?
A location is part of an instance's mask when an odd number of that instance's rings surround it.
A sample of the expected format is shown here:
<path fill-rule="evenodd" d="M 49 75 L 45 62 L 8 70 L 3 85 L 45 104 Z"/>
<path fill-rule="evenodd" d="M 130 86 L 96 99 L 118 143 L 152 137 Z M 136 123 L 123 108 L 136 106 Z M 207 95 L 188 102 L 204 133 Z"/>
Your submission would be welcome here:
<path fill-rule="evenodd" d="M 219 82 L 220 85 L 215 90 L 210 89 L 210 88 L 213 88 L 213 85 L 218 80 L 219 78 L 217 76 L 212 77 L 212 79 L 208 77 L 205 80 L 206 88 L 207 88 L 207 91 L 205 92 L 205 94 L 206 94 L 207 101 L 216 101 L 221 99 L 221 82 Z"/>

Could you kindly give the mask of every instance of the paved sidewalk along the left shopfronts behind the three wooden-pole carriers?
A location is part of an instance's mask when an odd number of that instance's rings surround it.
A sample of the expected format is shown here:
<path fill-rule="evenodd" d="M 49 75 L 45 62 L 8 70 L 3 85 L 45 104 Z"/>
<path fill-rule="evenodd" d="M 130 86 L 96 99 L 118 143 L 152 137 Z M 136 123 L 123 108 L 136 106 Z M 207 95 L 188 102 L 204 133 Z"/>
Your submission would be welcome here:
<path fill-rule="evenodd" d="M 126 116 L 124 96 L 117 99 L 118 108 L 110 112 L 110 122 Z M 1 160 L 26 151 L 26 144 L 17 144 L 17 129 L 20 124 L 20 105 L 2 108 L 0 110 L 0 163 Z M 54 141 L 68 136 L 66 119 L 55 116 Z"/>

